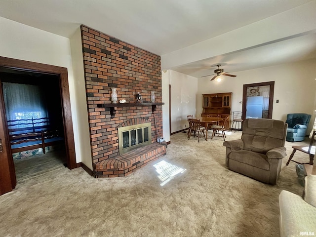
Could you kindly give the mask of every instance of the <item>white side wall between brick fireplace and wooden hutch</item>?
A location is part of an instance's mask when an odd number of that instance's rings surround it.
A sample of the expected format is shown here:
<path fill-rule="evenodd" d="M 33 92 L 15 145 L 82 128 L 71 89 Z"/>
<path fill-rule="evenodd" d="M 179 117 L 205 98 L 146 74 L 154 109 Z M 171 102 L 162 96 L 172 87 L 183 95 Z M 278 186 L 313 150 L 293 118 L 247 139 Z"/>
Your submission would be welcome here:
<path fill-rule="evenodd" d="M 197 78 L 168 70 L 171 84 L 171 132 L 188 128 L 187 115 L 196 116 Z"/>

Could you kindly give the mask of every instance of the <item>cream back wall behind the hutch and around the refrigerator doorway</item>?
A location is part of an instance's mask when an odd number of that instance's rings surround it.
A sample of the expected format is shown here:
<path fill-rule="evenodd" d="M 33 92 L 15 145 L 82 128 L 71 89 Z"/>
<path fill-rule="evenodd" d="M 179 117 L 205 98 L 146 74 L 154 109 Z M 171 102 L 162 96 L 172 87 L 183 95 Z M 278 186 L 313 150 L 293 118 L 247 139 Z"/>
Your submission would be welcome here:
<path fill-rule="evenodd" d="M 275 81 L 273 119 L 286 120 L 291 113 L 311 114 L 308 132 L 315 120 L 316 60 L 276 65 L 232 73 L 236 78 L 223 77 L 221 82 L 209 78 L 198 79 L 197 113 L 202 112 L 202 94 L 233 92 L 232 111 L 241 111 L 243 84 Z M 216 89 L 217 83 L 217 89 Z M 276 103 L 276 100 L 279 103 Z"/>

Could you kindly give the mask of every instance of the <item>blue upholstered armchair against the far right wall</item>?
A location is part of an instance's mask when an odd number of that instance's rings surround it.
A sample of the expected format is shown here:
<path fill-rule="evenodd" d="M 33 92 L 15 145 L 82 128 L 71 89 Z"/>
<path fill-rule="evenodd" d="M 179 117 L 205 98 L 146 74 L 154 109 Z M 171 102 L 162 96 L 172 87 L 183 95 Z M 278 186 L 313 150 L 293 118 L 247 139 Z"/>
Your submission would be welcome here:
<path fill-rule="evenodd" d="M 287 134 L 286 141 L 299 142 L 303 141 L 306 135 L 311 115 L 308 114 L 288 114 L 286 116 Z"/>

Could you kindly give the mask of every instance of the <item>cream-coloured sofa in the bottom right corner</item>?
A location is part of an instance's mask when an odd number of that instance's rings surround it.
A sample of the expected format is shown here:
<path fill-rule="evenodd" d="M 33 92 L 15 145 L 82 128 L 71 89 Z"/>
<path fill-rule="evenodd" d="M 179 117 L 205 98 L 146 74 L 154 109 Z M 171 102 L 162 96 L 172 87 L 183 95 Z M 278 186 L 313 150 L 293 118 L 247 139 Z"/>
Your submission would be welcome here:
<path fill-rule="evenodd" d="M 305 177 L 304 198 L 282 190 L 279 195 L 280 236 L 316 236 L 316 175 Z"/>

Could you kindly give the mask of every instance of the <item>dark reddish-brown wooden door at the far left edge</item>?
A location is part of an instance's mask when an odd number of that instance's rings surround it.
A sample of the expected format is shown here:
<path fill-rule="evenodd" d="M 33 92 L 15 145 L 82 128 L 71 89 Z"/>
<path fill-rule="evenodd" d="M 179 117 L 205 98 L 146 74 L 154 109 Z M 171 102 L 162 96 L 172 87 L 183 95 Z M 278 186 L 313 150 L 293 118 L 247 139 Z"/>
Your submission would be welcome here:
<path fill-rule="evenodd" d="M 0 195 L 12 191 L 15 186 L 16 177 L 9 147 L 2 86 L 0 86 Z"/>

